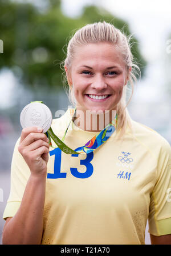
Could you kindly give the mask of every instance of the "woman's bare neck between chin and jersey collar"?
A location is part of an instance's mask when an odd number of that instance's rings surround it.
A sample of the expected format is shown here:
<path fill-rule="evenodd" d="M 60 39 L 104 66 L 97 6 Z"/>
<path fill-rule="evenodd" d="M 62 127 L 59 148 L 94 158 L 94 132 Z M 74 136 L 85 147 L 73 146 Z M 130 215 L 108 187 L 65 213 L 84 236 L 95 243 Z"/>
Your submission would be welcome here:
<path fill-rule="evenodd" d="M 84 131 L 100 132 L 115 118 L 116 110 L 93 111 L 76 108 L 74 124 Z"/>

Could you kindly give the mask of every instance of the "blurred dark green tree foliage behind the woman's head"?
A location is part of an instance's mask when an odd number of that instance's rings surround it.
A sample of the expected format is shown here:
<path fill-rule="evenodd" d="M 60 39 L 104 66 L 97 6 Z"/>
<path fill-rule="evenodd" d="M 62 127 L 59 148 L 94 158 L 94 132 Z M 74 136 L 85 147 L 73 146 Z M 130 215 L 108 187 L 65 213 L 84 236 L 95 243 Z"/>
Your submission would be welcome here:
<path fill-rule="evenodd" d="M 87 23 L 107 21 L 123 29 L 125 34 L 131 34 L 127 22 L 99 7 L 86 6 L 81 17 L 69 18 L 62 13 L 60 0 L 48 0 L 48 3 L 42 12 L 28 3 L 0 0 L 0 39 L 3 41 L 0 69 L 13 70 L 27 88 L 62 85 L 60 62 L 65 57 L 66 43 L 74 31 Z M 143 76 L 145 60 L 136 38 L 131 42 L 134 42 L 132 53 Z"/>

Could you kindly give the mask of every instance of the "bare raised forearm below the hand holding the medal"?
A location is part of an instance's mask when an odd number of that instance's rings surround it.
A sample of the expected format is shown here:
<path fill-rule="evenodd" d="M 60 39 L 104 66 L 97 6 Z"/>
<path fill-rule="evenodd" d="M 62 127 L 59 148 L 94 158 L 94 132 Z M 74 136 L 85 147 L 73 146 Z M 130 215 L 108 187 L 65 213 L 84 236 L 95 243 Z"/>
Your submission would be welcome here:
<path fill-rule="evenodd" d="M 46 175 L 30 175 L 21 206 L 3 231 L 3 244 L 40 244 Z"/>

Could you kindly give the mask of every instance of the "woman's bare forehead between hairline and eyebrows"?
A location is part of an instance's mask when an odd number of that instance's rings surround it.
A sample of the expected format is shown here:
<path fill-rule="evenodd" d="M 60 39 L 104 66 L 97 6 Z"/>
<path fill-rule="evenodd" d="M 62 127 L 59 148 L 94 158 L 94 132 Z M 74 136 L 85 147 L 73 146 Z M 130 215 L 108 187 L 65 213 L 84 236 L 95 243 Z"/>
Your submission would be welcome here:
<path fill-rule="evenodd" d="M 124 61 L 119 50 L 111 43 L 89 43 L 79 46 L 75 50 L 75 67 L 87 66 L 118 66 L 123 67 Z"/>

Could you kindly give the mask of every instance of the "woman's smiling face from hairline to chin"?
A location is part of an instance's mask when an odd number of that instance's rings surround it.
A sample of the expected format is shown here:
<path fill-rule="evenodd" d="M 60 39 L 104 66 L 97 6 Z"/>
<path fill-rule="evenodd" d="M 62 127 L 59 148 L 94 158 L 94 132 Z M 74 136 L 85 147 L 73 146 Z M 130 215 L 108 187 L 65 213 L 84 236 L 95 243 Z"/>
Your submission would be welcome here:
<path fill-rule="evenodd" d="M 128 81 L 123 58 L 111 43 L 78 47 L 67 78 L 77 109 L 103 112 L 116 110 Z"/>

